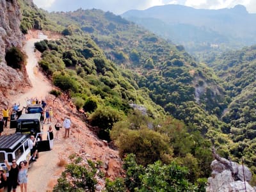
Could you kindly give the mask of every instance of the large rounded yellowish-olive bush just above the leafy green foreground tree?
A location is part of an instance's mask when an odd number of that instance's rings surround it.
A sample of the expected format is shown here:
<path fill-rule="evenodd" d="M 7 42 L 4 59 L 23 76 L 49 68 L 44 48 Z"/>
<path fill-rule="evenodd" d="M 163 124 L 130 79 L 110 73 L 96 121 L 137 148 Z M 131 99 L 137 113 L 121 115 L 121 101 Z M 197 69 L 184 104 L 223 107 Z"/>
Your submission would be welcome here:
<path fill-rule="evenodd" d="M 113 131 L 116 128 L 115 124 Z M 138 131 L 126 129 L 120 132 L 115 143 L 121 157 L 125 154 L 135 154 L 136 162 L 143 165 L 154 163 L 157 160 L 168 163 L 172 157 L 172 148 L 168 143 L 168 137 L 147 128 Z"/>

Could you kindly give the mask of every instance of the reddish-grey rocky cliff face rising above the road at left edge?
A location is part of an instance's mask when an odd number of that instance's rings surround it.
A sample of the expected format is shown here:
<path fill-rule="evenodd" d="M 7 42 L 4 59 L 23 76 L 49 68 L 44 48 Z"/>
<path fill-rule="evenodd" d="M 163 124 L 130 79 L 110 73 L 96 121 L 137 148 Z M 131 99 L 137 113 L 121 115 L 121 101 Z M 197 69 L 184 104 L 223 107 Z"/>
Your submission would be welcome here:
<path fill-rule="evenodd" d="M 20 31 L 20 13 L 17 0 L 0 0 L 0 106 L 6 105 L 6 97 L 21 92 L 29 86 L 26 69 L 15 70 L 5 62 L 5 53 L 10 47 L 22 50 L 24 35 Z"/>

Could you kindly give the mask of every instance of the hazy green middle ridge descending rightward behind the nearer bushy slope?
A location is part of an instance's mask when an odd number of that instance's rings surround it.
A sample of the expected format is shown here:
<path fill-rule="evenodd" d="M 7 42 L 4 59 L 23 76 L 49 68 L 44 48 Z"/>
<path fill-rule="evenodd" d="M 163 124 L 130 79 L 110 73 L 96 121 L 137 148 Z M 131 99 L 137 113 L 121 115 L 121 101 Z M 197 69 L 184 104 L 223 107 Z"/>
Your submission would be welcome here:
<path fill-rule="evenodd" d="M 51 18 L 59 24 L 65 22 L 66 26 L 81 26 L 104 50 L 107 58 L 122 68 L 137 72 L 134 79 L 138 86 L 147 88 L 151 99 L 166 111 L 175 115 L 173 104 L 189 100 L 204 105 L 211 114 L 220 115 L 225 108 L 224 91 L 214 72 L 197 63 L 184 47 L 169 44 L 113 13 L 100 10 L 58 13 Z M 207 96 L 206 92 L 212 96 Z M 216 107 L 220 108 L 219 112 L 214 111 Z M 175 117 L 180 118 L 179 112 Z"/>

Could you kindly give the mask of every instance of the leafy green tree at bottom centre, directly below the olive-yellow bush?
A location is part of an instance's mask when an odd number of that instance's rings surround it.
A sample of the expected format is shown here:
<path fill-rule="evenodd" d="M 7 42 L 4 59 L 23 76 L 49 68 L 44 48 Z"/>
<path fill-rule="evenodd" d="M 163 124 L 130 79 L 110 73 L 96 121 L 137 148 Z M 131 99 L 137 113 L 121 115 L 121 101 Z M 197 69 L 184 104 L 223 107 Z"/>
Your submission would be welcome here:
<path fill-rule="evenodd" d="M 197 191 L 198 188 L 186 180 L 188 170 L 176 163 L 163 164 L 156 161 L 143 167 L 134 161 L 133 154 L 124 159 L 125 185 L 129 191 Z"/>

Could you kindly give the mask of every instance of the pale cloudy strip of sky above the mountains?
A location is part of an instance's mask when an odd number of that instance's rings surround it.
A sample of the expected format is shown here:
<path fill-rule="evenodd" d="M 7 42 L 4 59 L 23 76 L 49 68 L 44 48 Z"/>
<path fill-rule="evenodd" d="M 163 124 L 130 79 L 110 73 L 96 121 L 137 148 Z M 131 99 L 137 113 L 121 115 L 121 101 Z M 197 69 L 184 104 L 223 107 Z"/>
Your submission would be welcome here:
<path fill-rule="evenodd" d="M 128 10 L 145 10 L 151 6 L 164 4 L 182 4 L 204 9 L 233 8 L 236 4 L 243 4 L 248 12 L 256 13 L 256 0 L 33 0 L 33 2 L 38 8 L 49 12 L 97 8 L 118 15 Z"/>

